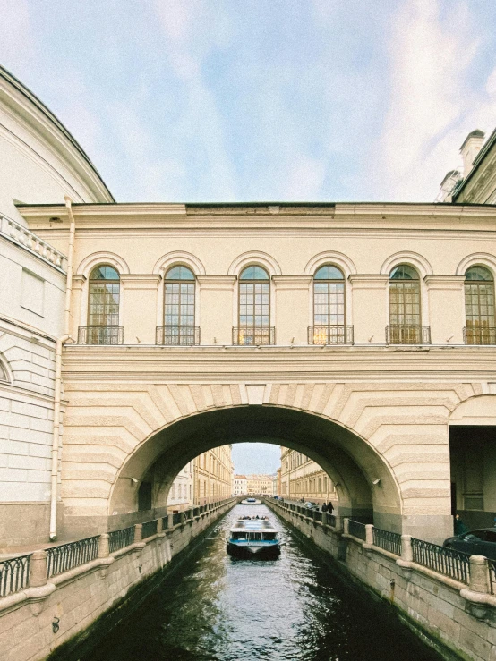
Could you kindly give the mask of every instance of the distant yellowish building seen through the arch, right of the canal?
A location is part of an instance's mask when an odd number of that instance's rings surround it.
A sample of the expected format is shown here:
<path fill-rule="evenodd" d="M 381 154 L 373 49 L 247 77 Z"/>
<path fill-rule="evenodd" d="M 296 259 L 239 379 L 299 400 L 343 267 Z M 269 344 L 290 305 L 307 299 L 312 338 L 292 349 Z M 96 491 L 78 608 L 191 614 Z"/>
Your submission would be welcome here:
<path fill-rule="evenodd" d="M 280 491 L 286 500 L 337 504 L 338 496 L 329 475 L 310 457 L 281 446 Z"/>

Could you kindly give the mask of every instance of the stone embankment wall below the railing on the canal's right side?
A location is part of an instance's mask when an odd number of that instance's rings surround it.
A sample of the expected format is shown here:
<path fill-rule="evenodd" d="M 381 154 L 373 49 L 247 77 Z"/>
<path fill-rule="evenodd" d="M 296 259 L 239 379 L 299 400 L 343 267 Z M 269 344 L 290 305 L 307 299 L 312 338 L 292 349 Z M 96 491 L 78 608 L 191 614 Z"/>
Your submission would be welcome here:
<path fill-rule="evenodd" d="M 446 659 L 496 661 L 496 597 L 345 534 L 303 513 L 266 504 L 284 521 L 398 609 L 402 619 Z"/>

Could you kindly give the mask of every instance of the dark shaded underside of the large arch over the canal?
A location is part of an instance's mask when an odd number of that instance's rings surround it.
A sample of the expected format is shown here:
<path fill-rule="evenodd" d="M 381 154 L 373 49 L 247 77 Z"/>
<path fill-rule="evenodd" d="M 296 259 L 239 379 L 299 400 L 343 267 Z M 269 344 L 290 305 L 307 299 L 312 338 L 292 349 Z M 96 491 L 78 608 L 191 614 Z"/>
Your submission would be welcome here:
<path fill-rule="evenodd" d="M 285 445 L 319 463 L 338 491 L 338 513 L 401 530 L 401 497 L 389 466 L 362 437 L 319 415 L 285 407 L 248 405 L 195 413 L 143 441 L 119 471 L 108 513 L 136 510 L 131 478 L 152 474 L 154 507 L 167 504 L 168 489 L 184 465 L 218 445 Z M 375 481 L 377 484 L 373 484 Z M 158 497 L 157 497 L 158 496 Z"/>

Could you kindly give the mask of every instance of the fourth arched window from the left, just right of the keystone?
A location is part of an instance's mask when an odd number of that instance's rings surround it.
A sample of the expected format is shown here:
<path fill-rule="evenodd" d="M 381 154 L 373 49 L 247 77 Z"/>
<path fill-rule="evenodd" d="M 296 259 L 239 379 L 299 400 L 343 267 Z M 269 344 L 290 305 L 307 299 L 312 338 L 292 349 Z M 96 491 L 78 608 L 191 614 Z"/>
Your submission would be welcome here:
<path fill-rule="evenodd" d="M 345 344 L 345 276 L 331 265 L 320 267 L 313 275 L 312 344 Z"/>

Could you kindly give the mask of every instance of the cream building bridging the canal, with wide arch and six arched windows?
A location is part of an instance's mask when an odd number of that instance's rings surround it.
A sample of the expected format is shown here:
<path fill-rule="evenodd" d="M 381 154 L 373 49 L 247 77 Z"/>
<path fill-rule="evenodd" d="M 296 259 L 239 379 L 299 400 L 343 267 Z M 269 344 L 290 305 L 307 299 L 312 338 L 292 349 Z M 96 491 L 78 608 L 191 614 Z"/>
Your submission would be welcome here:
<path fill-rule="evenodd" d="M 64 207 L 19 210 L 67 250 Z M 466 475 L 452 485 L 450 438 L 496 420 L 492 207 L 72 210 L 65 530 L 133 512 L 126 477 L 156 464 L 158 506 L 184 462 L 226 439 L 303 453 L 337 485 L 341 513 L 389 530 L 439 540 L 452 502 L 470 509 Z M 114 299 L 99 303 L 103 266 Z M 92 305 L 109 306 L 93 335 Z M 491 483 L 481 488 L 490 516 Z"/>

